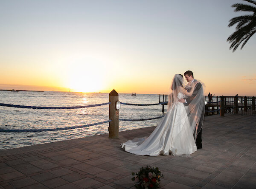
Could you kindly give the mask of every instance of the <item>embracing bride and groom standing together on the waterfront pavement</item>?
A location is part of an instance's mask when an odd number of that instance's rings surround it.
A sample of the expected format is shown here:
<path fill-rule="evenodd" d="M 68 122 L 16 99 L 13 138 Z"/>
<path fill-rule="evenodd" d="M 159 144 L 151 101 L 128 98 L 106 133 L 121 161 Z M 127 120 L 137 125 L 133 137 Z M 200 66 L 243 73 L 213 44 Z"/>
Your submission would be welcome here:
<path fill-rule="evenodd" d="M 172 79 L 168 111 L 148 137 L 134 138 L 121 144 L 125 151 L 137 155 L 189 155 L 202 148 L 204 119 L 204 84 L 194 79 L 192 71 L 176 74 Z M 184 87 L 185 86 L 185 87 Z"/>

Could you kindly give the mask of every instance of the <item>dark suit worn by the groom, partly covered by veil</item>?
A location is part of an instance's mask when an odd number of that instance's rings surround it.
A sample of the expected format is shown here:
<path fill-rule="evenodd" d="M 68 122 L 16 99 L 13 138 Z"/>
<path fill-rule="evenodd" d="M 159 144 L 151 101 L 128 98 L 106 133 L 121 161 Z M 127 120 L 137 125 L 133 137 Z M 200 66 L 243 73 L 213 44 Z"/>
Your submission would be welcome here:
<path fill-rule="evenodd" d="M 194 82 L 196 82 L 196 80 L 194 80 Z M 190 102 L 198 94 L 198 91 L 200 90 L 201 87 L 202 87 L 202 84 L 198 82 L 195 85 L 195 89 L 193 91 L 193 94 L 191 96 L 187 96 L 187 97 L 184 98 L 186 100 L 186 102 L 183 103 L 185 106 L 188 106 L 190 104 Z M 187 89 L 188 92 L 190 92 L 190 90 L 191 90 L 191 88 Z M 200 117 L 200 121 L 199 121 L 199 125 L 198 125 L 199 128 L 202 127 L 202 121 L 203 120 L 204 120 L 204 112 L 202 112 L 201 117 Z M 195 135 L 195 133 L 194 133 L 194 135 Z M 197 149 L 201 149 L 202 148 L 202 129 L 197 134 L 197 138 L 196 138 L 195 144 L 196 144 Z"/>

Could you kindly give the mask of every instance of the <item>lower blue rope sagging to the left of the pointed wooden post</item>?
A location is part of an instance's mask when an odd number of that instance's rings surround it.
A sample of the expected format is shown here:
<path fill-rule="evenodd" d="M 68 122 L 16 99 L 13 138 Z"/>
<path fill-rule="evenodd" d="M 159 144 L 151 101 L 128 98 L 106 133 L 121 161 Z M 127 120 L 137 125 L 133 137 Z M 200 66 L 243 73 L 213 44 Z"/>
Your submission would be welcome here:
<path fill-rule="evenodd" d="M 77 128 L 83 128 L 83 127 L 90 127 L 93 125 L 104 124 L 104 123 L 108 123 L 110 121 L 111 121 L 111 119 L 109 119 L 107 121 L 93 123 L 93 124 L 80 125 L 80 126 L 74 126 L 74 127 L 61 127 L 61 128 L 53 128 L 53 129 L 0 129 L 0 133 L 26 133 L 26 132 L 70 130 L 70 129 L 77 129 Z"/>

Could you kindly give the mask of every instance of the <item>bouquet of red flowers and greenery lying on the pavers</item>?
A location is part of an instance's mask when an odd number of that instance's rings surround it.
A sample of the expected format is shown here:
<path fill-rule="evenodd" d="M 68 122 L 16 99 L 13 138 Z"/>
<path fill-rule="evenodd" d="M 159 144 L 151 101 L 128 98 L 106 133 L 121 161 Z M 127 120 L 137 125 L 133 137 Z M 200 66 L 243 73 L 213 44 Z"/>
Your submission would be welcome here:
<path fill-rule="evenodd" d="M 156 189 L 160 187 L 160 177 L 161 171 L 158 167 L 141 167 L 140 171 L 136 174 L 134 172 L 131 173 L 134 177 L 131 178 L 132 181 L 135 181 L 135 186 L 137 189 Z"/>

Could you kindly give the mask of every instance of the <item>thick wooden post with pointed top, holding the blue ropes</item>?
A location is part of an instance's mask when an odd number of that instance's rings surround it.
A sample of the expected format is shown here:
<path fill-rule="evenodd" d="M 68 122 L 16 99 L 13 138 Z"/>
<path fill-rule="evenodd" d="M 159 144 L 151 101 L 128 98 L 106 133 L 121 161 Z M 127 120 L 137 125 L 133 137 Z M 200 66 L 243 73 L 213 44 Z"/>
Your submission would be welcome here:
<path fill-rule="evenodd" d="M 118 101 L 118 93 L 112 90 L 109 93 L 109 138 L 119 138 L 119 110 L 116 110 L 116 102 Z"/>

